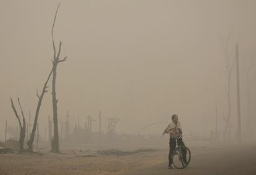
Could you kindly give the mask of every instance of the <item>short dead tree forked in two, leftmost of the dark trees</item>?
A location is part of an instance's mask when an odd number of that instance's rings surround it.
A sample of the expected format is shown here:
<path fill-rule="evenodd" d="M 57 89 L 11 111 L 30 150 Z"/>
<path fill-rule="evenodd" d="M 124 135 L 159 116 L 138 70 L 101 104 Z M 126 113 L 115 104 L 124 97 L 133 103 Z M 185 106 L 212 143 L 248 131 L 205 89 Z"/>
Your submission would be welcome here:
<path fill-rule="evenodd" d="M 20 152 L 23 152 L 23 144 L 24 144 L 24 139 L 25 139 L 25 134 L 26 134 L 26 121 L 25 121 L 25 117 L 24 117 L 24 114 L 23 114 L 23 110 L 22 110 L 22 107 L 20 105 L 20 99 L 18 98 L 18 102 L 19 102 L 19 106 L 20 106 L 20 110 L 22 112 L 22 117 L 23 117 L 23 126 L 20 122 L 20 118 L 19 118 L 19 115 L 17 113 L 17 110 L 14 106 L 14 102 L 12 101 L 12 97 L 11 97 L 11 104 L 12 104 L 12 109 L 14 110 L 14 114 L 16 116 L 16 118 L 18 119 L 19 121 L 19 125 L 20 125 L 20 139 L 19 139 L 19 144 L 20 144 Z"/>

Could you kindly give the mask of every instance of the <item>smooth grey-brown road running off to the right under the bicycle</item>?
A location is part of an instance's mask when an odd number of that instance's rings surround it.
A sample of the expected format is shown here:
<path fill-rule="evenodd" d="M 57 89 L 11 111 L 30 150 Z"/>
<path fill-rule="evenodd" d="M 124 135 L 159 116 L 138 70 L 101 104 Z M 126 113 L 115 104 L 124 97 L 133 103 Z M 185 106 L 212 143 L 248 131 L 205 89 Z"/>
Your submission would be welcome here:
<path fill-rule="evenodd" d="M 207 174 L 207 175 L 255 175 L 256 174 L 256 144 L 234 144 L 232 147 L 212 150 L 211 152 L 193 155 L 190 164 L 185 169 L 168 169 L 168 163 L 151 168 L 131 171 L 126 175 L 153 174 Z"/>

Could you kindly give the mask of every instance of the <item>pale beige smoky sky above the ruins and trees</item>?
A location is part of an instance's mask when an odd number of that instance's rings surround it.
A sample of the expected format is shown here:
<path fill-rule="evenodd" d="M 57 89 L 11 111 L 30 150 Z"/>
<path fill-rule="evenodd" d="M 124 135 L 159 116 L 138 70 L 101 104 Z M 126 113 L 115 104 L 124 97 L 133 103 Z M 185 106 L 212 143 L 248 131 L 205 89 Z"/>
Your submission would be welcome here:
<path fill-rule="evenodd" d="M 208 134 L 217 103 L 222 129 L 227 74 L 219 33 L 231 34 L 230 47 L 239 41 L 241 59 L 254 60 L 256 1 L 1 0 L 0 138 L 6 119 L 17 124 L 10 96 L 17 108 L 20 97 L 27 117 L 29 109 L 35 116 L 36 89 L 41 92 L 52 66 L 51 26 L 59 2 L 54 39 L 63 43 L 61 57 L 68 56 L 58 67 L 59 121 L 66 120 L 68 109 L 73 128 L 77 115 L 83 123 L 87 115 L 97 120 L 101 110 L 103 118 L 120 118 L 117 132 L 130 133 L 168 122 L 177 113 L 184 132 Z M 40 110 L 41 131 L 51 106 L 48 92 Z M 93 131 L 98 121 L 95 125 Z"/>

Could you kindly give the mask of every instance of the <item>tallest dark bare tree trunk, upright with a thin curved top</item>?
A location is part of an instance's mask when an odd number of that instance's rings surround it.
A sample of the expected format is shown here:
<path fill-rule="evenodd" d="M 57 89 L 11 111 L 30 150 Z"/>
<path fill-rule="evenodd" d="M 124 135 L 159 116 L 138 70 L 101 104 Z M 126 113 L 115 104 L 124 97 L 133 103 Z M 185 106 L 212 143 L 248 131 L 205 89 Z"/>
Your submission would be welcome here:
<path fill-rule="evenodd" d="M 59 4 L 60 5 L 60 4 Z M 57 103 L 58 100 L 56 99 L 56 75 L 57 75 L 57 66 L 58 63 L 60 62 L 64 62 L 66 61 L 67 57 L 64 57 L 64 59 L 60 60 L 59 56 L 61 54 L 61 41 L 59 42 L 59 51 L 58 54 L 56 55 L 56 47 L 54 44 L 54 38 L 53 38 L 53 29 L 54 29 L 54 24 L 56 21 L 56 16 L 58 13 L 58 9 L 59 9 L 59 5 L 57 7 L 56 13 L 55 13 L 55 17 L 54 17 L 54 22 L 53 22 L 53 27 L 51 29 L 51 36 L 52 36 L 52 40 L 53 40 L 53 51 L 54 51 L 54 55 L 53 55 L 53 126 L 54 126 L 54 132 L 53 132 L 53 140 L 51 142 L 51 152 L 54 153 L 59 153 L 59 131 L 58 131 L 58 112 L 57 112 Z"/>

